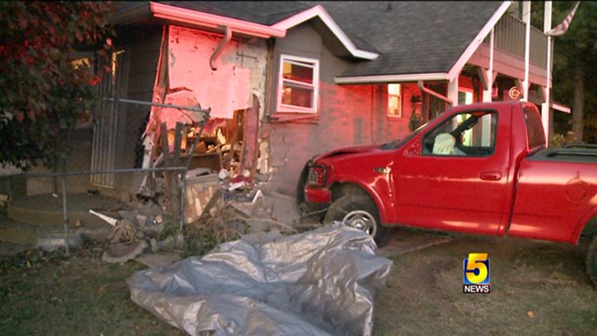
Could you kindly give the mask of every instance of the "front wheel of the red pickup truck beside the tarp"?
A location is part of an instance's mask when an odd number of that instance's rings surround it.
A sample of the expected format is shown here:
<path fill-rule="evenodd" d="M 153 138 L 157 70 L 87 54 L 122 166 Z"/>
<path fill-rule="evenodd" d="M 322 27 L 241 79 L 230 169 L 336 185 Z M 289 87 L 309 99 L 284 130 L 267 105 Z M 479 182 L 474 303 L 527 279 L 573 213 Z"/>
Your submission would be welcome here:
<path fill-rule="evenodd" d="M 385 246 L 389 239 L 389 228 L 381 225 L 377 206 L 367 196 L 345 195 L 331 204 L 325 214 L 325 223 L 344 222 L 371 234 L 378 247 Z"/>

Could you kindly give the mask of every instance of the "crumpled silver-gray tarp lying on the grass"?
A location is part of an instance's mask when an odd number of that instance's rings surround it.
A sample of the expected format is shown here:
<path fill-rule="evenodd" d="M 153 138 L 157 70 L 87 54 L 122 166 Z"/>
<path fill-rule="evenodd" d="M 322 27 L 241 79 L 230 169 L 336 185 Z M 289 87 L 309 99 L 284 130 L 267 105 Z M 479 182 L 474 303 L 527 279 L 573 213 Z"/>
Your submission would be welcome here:
<path fill-rule="evenodd" d="M 131 298 L 191 335 L 370 335 L 373 297 L 392 261 L 335 222 L 253 245 L 224 243 L 127 279 Z"/>

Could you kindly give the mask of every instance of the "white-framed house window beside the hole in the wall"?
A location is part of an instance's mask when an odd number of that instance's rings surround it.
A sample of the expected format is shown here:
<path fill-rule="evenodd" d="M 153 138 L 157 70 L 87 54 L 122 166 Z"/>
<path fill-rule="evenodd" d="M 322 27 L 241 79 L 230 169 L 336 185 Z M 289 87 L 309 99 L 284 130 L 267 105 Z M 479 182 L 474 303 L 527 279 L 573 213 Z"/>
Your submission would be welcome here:
<path fill-rule="evenodd" d="M 319 60 L 282 55 L 280 65 L 278 112 L 316 113 Z"/>

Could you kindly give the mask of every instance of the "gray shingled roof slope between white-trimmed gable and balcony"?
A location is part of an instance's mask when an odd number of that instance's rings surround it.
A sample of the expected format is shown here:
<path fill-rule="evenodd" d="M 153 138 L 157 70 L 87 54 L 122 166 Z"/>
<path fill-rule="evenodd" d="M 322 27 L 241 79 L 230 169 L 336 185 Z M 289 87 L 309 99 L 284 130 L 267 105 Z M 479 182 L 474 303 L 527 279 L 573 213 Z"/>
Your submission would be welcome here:
<path fill-rule="evenodd" d="M 502 1 L 319 3 L 338 25 L 380 52 L 341 75 L 357 77 L 449 72 Z"/>

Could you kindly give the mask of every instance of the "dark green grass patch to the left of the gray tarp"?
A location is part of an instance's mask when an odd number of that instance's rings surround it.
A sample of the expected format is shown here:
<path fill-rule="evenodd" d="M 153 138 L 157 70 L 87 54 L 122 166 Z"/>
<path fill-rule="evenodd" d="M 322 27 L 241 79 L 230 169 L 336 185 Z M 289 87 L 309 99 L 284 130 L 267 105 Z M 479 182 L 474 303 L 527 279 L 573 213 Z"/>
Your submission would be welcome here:
<path fill-rule="evenodd" d="M 96 249 L 97 251 L 97 249 Z M 0 264 L 2 335 L 184 335 L 130 299 L 125 279 L 145 268 L 101 251 L 21 253 Z"/>

